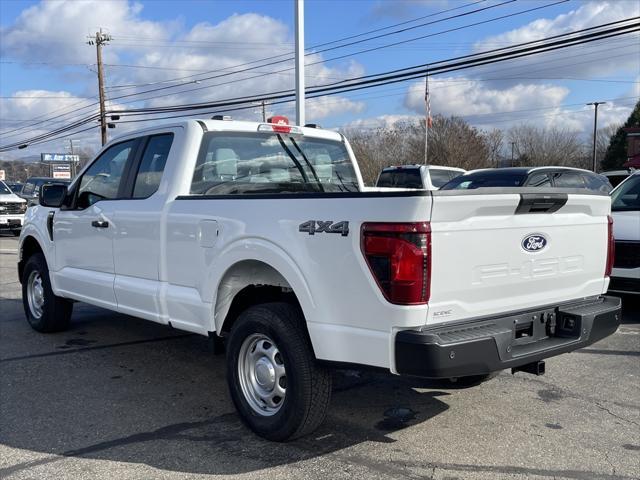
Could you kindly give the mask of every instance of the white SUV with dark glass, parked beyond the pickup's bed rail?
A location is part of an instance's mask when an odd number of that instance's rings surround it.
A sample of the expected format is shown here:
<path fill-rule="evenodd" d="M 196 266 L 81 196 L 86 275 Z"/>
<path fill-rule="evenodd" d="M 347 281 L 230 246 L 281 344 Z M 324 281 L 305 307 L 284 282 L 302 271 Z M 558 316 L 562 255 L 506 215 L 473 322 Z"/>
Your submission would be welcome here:
<path fill-rule="evenodd" d="M 438 190 L 449 180 L 462 175 L 462 168 L 435 165 L 400 165 L 387 167 L 380 172 L 376 187 L 417 188 Z"/>

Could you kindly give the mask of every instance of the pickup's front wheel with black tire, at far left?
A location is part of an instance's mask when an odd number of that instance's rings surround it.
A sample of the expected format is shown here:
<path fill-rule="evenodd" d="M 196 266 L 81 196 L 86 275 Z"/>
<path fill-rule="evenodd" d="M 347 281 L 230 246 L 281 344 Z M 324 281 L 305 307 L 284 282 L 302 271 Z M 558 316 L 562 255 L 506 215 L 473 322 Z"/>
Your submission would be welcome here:
<path fill-rule="evenodd" d="M 49 268 L 42 253 L 27 260 L 22 273 L 22 304 L 31 328 L 42 333 L 69 328 L 73 303 L 51 289 Z"/>

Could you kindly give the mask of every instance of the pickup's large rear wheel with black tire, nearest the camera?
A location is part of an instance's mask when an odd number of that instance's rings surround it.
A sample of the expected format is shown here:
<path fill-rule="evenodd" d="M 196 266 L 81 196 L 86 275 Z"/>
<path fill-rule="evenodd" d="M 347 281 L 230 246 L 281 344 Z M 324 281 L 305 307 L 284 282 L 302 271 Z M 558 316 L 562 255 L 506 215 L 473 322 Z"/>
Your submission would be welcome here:
<path fill-rule="evenodd" d="M 307 435 L 324 420 L 331 375 L 316 364 L 299 308 L 245 310 L 227 345 L 227 382 L 243 422 L 268 440 Z"/>

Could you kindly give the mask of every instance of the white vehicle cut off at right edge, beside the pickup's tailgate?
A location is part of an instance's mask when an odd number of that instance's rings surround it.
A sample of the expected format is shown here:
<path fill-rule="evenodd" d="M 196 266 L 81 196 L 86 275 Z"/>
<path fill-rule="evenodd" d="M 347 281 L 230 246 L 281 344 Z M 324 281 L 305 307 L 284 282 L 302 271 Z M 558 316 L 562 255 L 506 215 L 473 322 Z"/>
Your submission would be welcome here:
<path fill-rule="evenodd" d="M 640 171 L 611 192 L 616 250 L 609 291 L 640 295 Z"/>

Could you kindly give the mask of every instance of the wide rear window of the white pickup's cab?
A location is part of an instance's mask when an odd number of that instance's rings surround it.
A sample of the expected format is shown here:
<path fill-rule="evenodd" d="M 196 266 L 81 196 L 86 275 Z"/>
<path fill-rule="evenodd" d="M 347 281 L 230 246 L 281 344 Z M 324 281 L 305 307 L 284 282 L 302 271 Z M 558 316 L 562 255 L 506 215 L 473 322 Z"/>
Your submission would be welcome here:
<path fill-rule="evenodd" d="M 200 195 L 357 191 L 342 142 L 271 133 L 205 134 L 191 183 Z"/>

